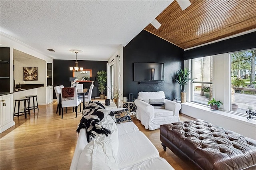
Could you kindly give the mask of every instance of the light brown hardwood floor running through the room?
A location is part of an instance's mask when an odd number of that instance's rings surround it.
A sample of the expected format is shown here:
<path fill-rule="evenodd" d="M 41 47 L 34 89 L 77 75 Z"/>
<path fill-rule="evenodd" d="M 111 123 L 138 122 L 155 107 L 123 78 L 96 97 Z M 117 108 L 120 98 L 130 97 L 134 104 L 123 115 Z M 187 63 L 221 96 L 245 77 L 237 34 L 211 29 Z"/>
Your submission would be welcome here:
<path fill-rule="evenodd" d="M 69 169 L 76 147 L 78 134 L 76 127 L 82 112 L 68 113 L 63 116 L 55 114 L 57 102 L 39 106 L 39 111 L 25 119 L 14 117 L 15 126 L 0 134 L 0 169 L 1 170 L 57 170 Z M 79 109 L 78 109 L 79 111 Z M 192 120 L 180 115 L 181 121 Z M 147 130 L 138 119 L 133 119 L 138 128 L 146 134 L 156 146 L 160 157 L 165 158 L 176 170 L 194 169 L 191 164 L 180 160 L 168 148 L 164 152 L 160 142 L 160 131 Z"/>

